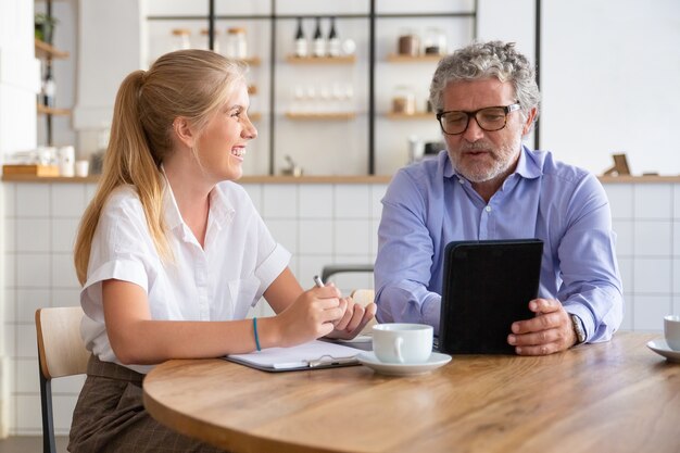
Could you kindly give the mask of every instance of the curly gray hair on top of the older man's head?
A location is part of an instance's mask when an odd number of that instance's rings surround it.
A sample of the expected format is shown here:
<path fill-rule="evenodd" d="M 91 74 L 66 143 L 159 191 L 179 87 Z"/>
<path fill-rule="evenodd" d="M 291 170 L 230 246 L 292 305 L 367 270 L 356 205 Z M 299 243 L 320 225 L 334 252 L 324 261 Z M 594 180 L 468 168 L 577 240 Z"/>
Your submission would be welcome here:
<path fill-rule="evenodd" d="M 449 84 L 489 77 L 513 84 L 525 116 L 537 108 L 538 118 L 541 93 L 536 83 L 536 72 L 529 60 L 517 52 L 515 42 L 473 42 L 444 56 L 432 76 L 430 103 L 436 112 L 441 112 L 444 109 L 443 92 Z"/>

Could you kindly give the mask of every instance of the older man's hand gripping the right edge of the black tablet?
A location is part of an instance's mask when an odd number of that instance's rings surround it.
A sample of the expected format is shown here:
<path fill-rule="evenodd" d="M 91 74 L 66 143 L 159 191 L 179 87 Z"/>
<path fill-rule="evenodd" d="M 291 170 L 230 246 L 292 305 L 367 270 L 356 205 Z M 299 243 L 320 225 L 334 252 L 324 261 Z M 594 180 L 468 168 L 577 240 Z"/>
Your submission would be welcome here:
<path fill-rule="evenodd" d="M 513 323 L 507 342 L 519 355 L 547 355 L 576 344 L 577 338 L 569 314 L 554 299 L 534 299 L 529 310 L 536 317 Z"/>

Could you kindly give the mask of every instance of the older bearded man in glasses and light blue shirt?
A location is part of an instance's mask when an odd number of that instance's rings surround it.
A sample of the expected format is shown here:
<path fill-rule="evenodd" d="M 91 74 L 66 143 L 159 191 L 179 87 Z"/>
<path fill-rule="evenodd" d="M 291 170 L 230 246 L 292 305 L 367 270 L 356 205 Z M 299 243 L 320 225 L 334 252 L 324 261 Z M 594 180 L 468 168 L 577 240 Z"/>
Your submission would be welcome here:
<path fill-rule="evenodd" d="M 508 326 L 517 354 L 606 341 L 619 327 L 624 301 L 606 194 L 592 174 L 522 146 L 539 101 L 533 67 L 514 43 L 476 42 L 439 63 L 430 102 L 448 150 L 398 172 L 382 200 L 380 322 L 439 328 L 450 241 L 539 238 L 539 299 L 527 301 L 536 317 Z"/>

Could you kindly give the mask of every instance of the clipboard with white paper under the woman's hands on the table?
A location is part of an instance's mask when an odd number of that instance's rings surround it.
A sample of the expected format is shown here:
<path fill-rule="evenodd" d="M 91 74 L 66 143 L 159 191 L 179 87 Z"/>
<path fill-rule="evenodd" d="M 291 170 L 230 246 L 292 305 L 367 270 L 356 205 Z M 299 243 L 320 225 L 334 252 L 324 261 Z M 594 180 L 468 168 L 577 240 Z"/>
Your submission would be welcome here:
<path fill-rule="evenodd" d="M 314 340 L 291 348 L 267 348 L 249 354 L 230 354 L 225 358 L 265 372 L 330 368 L 358 365 L 358 349 Z"/>

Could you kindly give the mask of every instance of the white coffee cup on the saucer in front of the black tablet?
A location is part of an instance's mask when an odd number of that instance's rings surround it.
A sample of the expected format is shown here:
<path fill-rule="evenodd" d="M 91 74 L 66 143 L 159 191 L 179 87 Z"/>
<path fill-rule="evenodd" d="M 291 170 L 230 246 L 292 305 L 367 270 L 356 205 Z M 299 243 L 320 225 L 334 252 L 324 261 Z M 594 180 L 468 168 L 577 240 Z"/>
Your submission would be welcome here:
<path fill-rule="evenodd" d="M 385 363 L 424 363 L 432 353 L 432 326 L 387 323 L 373 326 L 373 352 Z"/>

